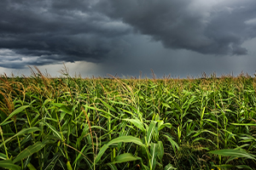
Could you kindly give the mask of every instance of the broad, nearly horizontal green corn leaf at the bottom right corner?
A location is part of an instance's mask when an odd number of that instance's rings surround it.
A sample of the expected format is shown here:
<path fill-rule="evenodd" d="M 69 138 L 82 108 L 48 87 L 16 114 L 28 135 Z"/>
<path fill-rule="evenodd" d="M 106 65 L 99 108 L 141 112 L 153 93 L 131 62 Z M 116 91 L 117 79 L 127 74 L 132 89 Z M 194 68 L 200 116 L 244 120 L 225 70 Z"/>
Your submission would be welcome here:
<path fill-rule="evenodd" d="M 209 151 L 209 153 L 215 154 L 215 155 L 218 155 L 218 156 L 246 157 L 246 158 L 249 158 L 249 159 L 256 160 L 255 156 L 253 156 L 252 154 L 248 154 L 244 150 L 231 150 L 231 149 L 227 149 L 227 150 L 212 150 L 212 151 Z"/>

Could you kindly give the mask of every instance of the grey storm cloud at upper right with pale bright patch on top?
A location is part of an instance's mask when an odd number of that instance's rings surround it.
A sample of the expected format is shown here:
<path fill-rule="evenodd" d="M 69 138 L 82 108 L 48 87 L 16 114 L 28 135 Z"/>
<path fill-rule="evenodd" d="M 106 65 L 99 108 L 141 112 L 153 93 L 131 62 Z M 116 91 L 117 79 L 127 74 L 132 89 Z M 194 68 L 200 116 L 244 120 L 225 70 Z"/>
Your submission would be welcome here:
<path fill-rule="evenodd" d="M 166 48 L 240 55 L 247 54 L 241 43 L 256 37 L 255 24 L 247 21 L 256 16 L 254 0 L 106 0 L 98 8 Z"/>

